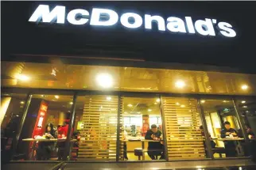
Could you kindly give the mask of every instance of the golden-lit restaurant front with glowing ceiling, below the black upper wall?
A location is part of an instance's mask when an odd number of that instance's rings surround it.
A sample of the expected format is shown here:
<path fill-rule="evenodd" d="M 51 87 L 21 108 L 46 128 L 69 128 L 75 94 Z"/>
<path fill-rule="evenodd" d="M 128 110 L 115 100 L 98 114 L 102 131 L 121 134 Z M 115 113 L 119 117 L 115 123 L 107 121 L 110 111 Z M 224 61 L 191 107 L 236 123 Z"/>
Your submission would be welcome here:
<path fill-rule="evenodd" d="M 235 157 L 248 157 L 242 126 L 256 132 L 255 85 L 252 74 L 2 62 L 2 148 L 20 134 L 12 159 L 37 161 L 43 147 L 45 160 L 61 160 L 72 125 L 71 161 L 152 161 L 145 134 L 156 125 L 165 161 L 219 159 L 228 121 L 238 132 Z"/>

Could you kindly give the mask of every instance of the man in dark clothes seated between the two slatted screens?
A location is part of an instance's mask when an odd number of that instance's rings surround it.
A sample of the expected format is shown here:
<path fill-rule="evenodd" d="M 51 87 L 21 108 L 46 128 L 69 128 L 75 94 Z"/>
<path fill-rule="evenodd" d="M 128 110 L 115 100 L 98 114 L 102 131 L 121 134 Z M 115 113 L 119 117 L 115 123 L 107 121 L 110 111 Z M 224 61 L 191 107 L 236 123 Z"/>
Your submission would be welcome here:
<path fill-rule="evenodd" d="M 145 139 L 146 140 L 154 140 L 155 138 L 160 138 L 161 136 L 161 130 L 157 129 L 157 125 L 153 124 L 151 126 L 151 129 L 148 130 L 145 134 Z M 157 150 L 157 151 L 154 151 Z M 162 150 L 162 151 L 159 151 Z M 149 142 L 149 147 L 148 147 L 148 154 L 149 157 L 152 160 L 157 160 L 157 156 L 161 155 L 161 160 L 165 159 L 165 145 L 162 145 L 161 142 Z"/>

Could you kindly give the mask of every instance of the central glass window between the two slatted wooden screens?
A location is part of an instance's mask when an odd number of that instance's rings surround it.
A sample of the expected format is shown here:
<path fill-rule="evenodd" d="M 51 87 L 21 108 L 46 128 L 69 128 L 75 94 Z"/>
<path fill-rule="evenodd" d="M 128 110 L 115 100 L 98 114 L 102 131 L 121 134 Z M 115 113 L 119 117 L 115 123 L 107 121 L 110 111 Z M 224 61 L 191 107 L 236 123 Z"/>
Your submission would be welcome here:
<path fill-rule="evenodd" d="M 120 161 L 165 160 L 160 100 L 122 97 Z"/>

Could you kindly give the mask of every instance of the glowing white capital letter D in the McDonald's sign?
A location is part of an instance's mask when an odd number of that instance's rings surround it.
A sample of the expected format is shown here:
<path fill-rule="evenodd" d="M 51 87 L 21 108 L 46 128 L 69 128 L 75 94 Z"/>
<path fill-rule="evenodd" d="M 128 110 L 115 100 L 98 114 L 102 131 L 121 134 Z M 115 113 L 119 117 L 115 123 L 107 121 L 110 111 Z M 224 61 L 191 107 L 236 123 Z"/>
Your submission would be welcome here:
<path fill-rule="evenodd" d="M 107 21 L 99 21 L 101 14 L 107 14 L 109 16 Z M 118 22 L 118 13 L 111 9 L 92 9 L 90 25 L 99 26 L 111 26 Z"/>

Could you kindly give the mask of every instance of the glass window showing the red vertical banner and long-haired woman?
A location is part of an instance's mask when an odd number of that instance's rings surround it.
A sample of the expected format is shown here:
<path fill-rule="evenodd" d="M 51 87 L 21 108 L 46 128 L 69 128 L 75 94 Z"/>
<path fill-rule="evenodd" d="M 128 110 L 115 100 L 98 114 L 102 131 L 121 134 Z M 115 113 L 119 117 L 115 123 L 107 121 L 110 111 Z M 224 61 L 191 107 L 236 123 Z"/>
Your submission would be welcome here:
<path fill-rule="evenodd" d="M 14 160 L 63 160 L 73 96 L 33 94 Z"/>

